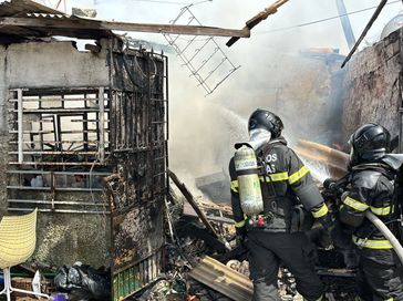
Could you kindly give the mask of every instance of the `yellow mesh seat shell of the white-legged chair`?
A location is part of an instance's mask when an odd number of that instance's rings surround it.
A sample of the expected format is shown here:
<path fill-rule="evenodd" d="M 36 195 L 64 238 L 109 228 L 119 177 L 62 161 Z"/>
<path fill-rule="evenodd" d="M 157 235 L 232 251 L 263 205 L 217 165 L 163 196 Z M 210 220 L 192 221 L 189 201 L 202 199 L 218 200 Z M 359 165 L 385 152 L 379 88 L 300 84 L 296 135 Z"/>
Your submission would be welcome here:
<path fill-rule="evenodd" d="M 0 268 L 24 262 L 35 250 L 37 209 L 23 216 L 4 216 L 0 221 Z"/>

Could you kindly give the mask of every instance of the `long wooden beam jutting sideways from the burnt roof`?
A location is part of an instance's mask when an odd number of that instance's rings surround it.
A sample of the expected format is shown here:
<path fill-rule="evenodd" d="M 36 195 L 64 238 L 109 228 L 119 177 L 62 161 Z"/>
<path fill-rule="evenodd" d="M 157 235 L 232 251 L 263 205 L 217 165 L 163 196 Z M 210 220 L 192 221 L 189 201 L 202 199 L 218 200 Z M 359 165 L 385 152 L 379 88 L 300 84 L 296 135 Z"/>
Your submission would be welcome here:
<path fill-rule="evenodd" d="M 0 27 L 59 28 L 78 30 L 120 30 L 137 32 L 155 32 L 209 37 L 249 38 L 248 28 L 223 29 L 215 27 L 128 23 L 102 20 L 86 20 L 82 18 L 49 18 L 49 17 L 4 17 L 0 18 Z"/>

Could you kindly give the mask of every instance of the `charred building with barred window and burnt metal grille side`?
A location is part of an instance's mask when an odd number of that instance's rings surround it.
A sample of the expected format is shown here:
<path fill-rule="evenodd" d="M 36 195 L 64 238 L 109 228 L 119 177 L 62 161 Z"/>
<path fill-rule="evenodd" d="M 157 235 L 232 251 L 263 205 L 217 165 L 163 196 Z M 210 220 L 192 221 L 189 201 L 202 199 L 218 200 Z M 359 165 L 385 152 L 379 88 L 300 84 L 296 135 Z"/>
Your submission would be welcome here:
<path fill-rule="evenodd" d="M 0 15 L 80 22 L 28 0 Z M 167 80 L 164 54 L 108 30 L 0 28 L 2 214 L 38 208 L 32 261 L 107 266 L 113 300 L 162 269 Z"/>

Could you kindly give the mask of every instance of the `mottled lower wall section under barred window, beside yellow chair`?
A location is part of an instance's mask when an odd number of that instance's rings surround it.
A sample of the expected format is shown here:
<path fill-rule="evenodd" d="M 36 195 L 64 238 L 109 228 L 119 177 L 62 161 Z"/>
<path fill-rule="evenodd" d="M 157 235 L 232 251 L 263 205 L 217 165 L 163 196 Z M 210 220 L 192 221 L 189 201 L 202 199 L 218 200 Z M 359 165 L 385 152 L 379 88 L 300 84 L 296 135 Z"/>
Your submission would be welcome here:
<path fill-rule="evenodd" d="M 40 212 L 38 229 L 31 262 L 61 267 L 81 261 L 93 267 L 110 267 L 108 216 Z"/>

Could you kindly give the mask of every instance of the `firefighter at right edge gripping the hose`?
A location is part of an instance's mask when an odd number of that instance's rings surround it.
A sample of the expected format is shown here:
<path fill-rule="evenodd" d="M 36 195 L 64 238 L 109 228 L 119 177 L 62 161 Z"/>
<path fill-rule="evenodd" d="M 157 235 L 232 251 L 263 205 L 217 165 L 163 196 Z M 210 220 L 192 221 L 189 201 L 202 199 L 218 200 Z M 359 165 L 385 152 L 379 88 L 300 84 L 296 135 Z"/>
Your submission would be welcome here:
<path fill-rule="evenodd" d="M 390 133 L 378 124 L 364 124 L 350 137 L 347 191 L 341 197 L 339 219 L 352 228 L 359 255 L 360 298 L 362 300 L 403 300 L 402 280 L 392 245 L 364 218 L 371 210 L 396 233 L 394 210 L 394 169 L 384 160 L 390 150 Z"/>

